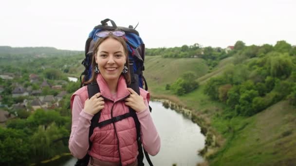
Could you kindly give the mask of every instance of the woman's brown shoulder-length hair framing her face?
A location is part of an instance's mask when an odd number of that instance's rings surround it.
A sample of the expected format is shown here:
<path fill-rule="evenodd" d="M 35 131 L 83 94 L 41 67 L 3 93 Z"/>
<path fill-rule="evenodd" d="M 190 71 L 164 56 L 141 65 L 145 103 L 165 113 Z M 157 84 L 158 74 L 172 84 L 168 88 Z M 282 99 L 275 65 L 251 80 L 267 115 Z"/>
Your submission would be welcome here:
<path fill-rule="evenodd" d="M 109 38 L 112 38 L 112 39 L 115 39 L 117 40 L 122 46 L 123 46 L 123 50 L 124 50 L 124 53 L 126 55 L 126 63 L 125 63 L 125 66 L 128 67 L 129 69 L 129 50 L 127 48 L 127 44 L 126 44 L 126 41 L 123 37 L 117 37 L 117 36 L 114 36 L 113 34 L 109 34 L 107 35 L 106 37 L 103 37 L 103 38 L 99 38 L 95 44 L 94 44 L 94 48 L 93 48 L 93 53 L 92 53 L 92 78 L 85 82 L 84 84 L 89 84 L 89 83 L 93 83 L 96 81 L 96 77 L 97 77 L 97 73 L 94 72 L 94 67 L 96 66 L 96 63 L 95 63 L 95 56 L 96 56 L 96 53 L 98 51 L 98 48 L 99 46 L 106 40 L 106 39 L 109 39 Z M 128 73 L 122 73 L 122 75 L 124 76 L 124 78 L 126 79 L 126 83 L 127 85 L 130 84 L 130 74 L 129 72 Z"/>

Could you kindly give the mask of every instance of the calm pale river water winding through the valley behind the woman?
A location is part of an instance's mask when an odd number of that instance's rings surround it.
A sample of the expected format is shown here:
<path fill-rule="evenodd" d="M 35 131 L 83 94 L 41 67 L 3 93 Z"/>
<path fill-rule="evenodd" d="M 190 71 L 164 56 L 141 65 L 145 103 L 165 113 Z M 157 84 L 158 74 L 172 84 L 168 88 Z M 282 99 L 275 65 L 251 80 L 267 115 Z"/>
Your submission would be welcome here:
<path fill-rule="evenodd" d="M 199 151 L 204 149 L 205 136 L 201 133 L 201 128 L 192 122 L 191 111 L 177 107 L 167 100 L 150 101 L 149 105 L 152 107 L 153 122 L 161 137 L 160 152 L 156 156 L 150 156 L 153 165 L 196 166 L 204 162 Z M 73 157 L 65 156 L 42 166 L 74 166 L 76 161 Z M 146 159 L 144 164 L 149 166 Z"/>

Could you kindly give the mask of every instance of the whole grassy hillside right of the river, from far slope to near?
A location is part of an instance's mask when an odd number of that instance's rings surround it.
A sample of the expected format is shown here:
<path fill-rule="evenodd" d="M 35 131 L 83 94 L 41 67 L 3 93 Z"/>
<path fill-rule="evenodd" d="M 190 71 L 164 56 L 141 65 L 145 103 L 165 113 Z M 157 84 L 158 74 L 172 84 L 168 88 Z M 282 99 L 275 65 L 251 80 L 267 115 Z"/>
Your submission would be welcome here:
<path fill-rule="evenodd" d="M 222 60 L 211 72 L 201 59 L 168 59 L 148 56 L 145 76 L 152 96 L 167 98 L 193 110 L 208 130 L 216 133 L 217 149 L 208 152 L 213 166 L 293 166 L 296 165 L 296 108 L 282 100 L 251 117 L 221 118 L 225 104 L 203 94 L 204 83 L 223 73 L 233 57 Z M 205 67 L 205 68 L 202 68 Z M 185 71 L 194 71 L 200 87 L 177 97 L 165 90 Z"/>

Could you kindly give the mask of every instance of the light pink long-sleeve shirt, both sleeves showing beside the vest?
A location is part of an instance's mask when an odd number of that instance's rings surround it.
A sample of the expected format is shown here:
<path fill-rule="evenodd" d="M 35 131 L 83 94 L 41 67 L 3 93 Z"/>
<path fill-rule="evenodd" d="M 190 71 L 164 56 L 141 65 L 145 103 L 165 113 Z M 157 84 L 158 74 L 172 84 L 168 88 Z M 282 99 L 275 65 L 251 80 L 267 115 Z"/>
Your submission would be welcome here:
<path fill-rule="evenodd" d="M 141 124 L 141 140 L 144 149 L 152 156 L 160 150 L 160 136 L 150 116 L 148 101 L 144 101 L 146 110 L 136 113 Z M 89 128 L 93 115 L 84 112 L 79 96 L 74 97 L 72 109 L 72 129 L 69 149 L 74 157 L 83 158 L 89 149 Z"/>

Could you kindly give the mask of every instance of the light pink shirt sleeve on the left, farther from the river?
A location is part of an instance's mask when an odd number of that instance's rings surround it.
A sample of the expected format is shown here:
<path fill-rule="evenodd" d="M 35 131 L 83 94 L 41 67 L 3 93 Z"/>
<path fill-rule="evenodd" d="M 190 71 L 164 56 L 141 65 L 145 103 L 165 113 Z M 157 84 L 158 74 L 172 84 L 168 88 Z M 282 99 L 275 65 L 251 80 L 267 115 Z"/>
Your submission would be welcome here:
<path fill-rule="evenodd" d="M 69 149 L 78 159 L 83 158 L 89 149 L 89 132 L 92 115 L 84 112 L 79 96 L 74 97 L 72 109 L 72 127 Z"/>

